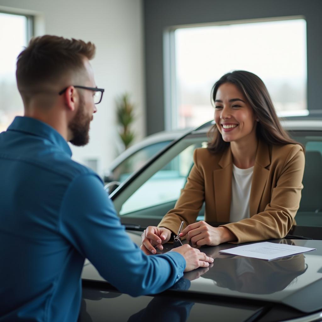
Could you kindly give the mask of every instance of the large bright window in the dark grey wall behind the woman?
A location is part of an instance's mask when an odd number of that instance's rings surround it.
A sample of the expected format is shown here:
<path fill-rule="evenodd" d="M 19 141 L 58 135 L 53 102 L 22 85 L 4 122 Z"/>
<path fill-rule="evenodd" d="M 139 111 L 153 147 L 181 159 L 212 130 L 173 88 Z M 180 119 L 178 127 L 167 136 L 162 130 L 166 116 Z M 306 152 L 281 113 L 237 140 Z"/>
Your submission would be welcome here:
<path fill-rule="evenodd" d="M 167 128 L 212 119 L 211 88 L 233 70 L 257 74 L 280 115 L 307 110 L 304 19 L 175 28 L 166 33 L 165 59 Z"/>

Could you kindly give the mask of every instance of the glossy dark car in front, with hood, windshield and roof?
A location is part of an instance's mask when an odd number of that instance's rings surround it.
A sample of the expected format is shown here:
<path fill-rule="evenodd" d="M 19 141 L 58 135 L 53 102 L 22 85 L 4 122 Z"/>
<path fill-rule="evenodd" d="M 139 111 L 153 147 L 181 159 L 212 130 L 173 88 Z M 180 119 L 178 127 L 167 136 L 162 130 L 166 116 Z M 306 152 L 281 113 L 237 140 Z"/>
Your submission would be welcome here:
<path fill-rule="evenodd" d="M 174 207 L 192 167 L 194 149 L 206 147 L 210 125 L 170 143 L 110 195 L 138 246 L 144 227 L 156 225 Z M 162 294 L 138 298 L 119 293 L 89 263 L 82 274 L 80 320 L 322 321 L 322 120 L 285 120 L 282 125 L 305 146 L 304 189 L 297 226 L 285 239 L 271 242 L 315 251 L 265 261 L 219 254 L 233 244 L 205 246 L 202 251 L 214 258 L 211 267 L 185 273 Z M 203 215 L 202 209 L 198 219 Z M 163 251 L 171 248 L 166 244 Z"/>

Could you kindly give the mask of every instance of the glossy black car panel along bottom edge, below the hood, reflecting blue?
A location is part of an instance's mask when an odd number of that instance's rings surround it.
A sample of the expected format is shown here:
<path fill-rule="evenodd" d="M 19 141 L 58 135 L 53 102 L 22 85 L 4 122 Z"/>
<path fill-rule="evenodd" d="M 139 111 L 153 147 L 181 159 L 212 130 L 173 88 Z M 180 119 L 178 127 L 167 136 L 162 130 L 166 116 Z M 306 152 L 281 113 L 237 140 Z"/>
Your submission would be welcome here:
<path fill-rule="evenodd" d="M 79 321 L 244 321 L 256 314 L 257 306 L 243 308 L 198 303 L 171 297 L 130 297 L 127 294 L 86 289 Z"/>

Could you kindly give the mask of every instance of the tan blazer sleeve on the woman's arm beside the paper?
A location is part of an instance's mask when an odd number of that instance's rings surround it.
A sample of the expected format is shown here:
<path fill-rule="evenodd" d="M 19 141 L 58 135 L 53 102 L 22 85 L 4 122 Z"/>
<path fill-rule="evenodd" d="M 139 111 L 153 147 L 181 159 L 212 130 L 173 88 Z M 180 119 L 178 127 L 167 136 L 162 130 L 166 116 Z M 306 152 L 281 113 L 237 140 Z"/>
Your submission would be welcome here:
<path fill-rule="evenodd" d="M 304 173 L 304 152 L 294 145 L 272 189 L 270 203 L 264 211 L 237 223 L 223 225 L 237 237 L 237 242 L 255 242 L 284 238 L 292 227 L 301 200 Z"/>

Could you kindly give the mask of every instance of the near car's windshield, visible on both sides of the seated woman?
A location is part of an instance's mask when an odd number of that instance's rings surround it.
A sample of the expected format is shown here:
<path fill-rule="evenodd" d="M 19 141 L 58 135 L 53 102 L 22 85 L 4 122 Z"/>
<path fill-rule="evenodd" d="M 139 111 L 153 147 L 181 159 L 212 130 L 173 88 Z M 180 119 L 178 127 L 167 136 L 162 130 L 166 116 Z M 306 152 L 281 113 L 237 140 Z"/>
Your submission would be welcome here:
<path fill-rule="evenodd" d="M 322 227 L 322 131 L 293 130 L 290 134 L 306 149 L 304 189 L 296 222 Z M 112 199 L 121 218 L 150 219 L 147 225 L 155 224 L 174 208 L 193 165 L 194 149 L 206 148 L 207 141 L 206 131 L 192 132 L 134 176 L 128 185 L 120 187 Z M 202 208 L 197 220 L 203 218 Z"/>

